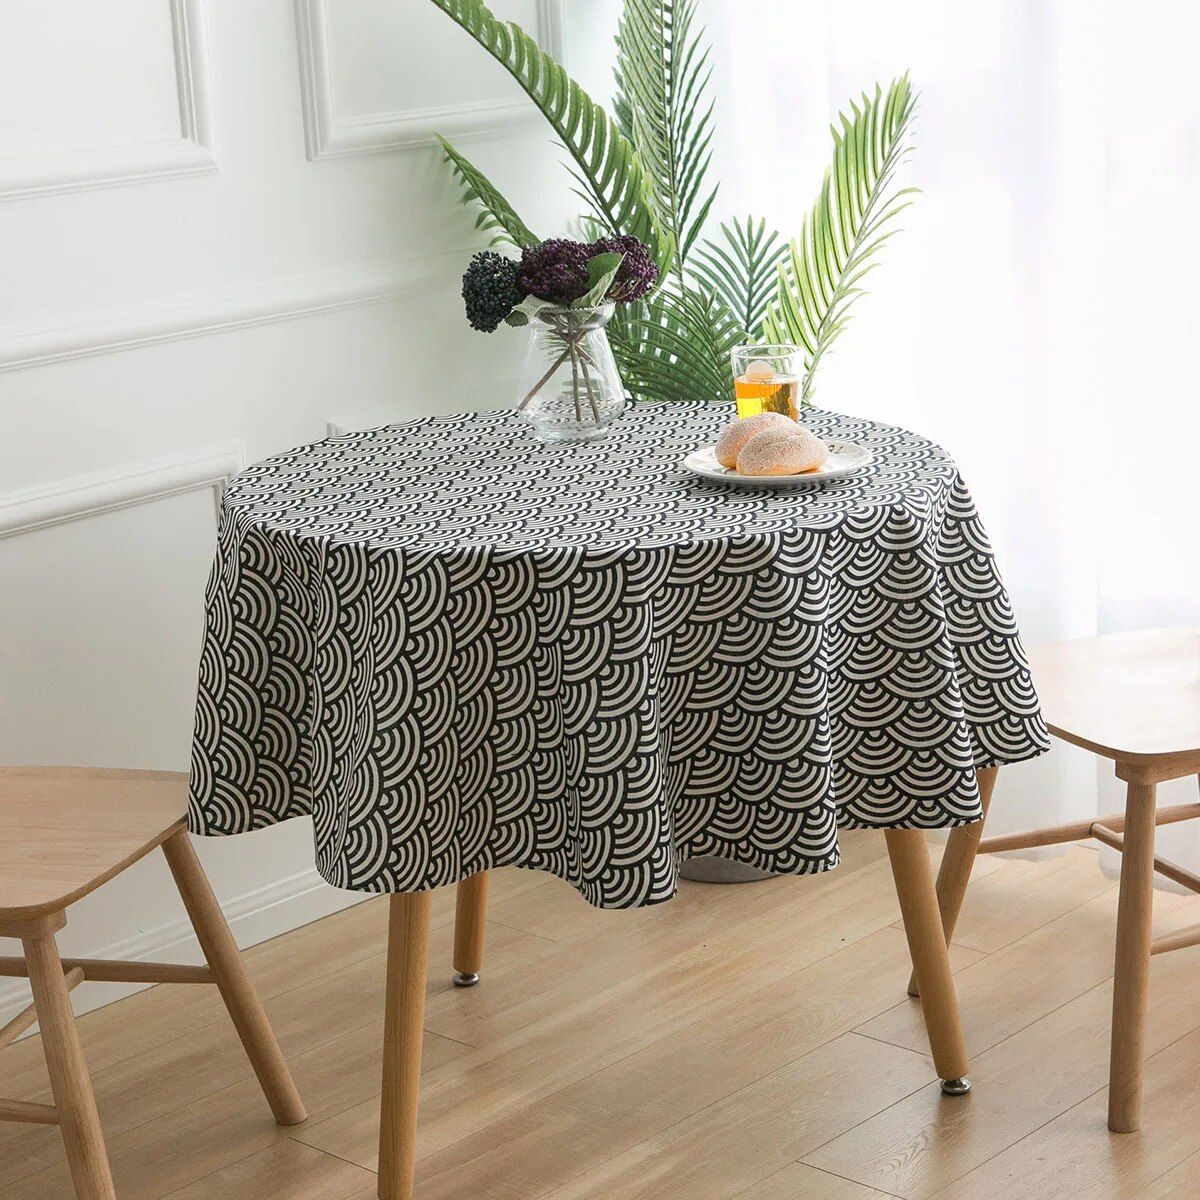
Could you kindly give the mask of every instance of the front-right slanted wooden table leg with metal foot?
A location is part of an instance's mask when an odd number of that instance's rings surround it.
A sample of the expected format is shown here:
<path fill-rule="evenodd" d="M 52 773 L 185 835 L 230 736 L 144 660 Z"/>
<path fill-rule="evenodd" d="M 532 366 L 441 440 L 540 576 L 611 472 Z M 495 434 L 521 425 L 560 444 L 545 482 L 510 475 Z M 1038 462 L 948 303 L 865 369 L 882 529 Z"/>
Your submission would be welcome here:
<path fill-rule="evenodd" d="M 948 1096 L 961 1096 L 971 1090 L 966 1078 L 967 1051 L 925 834 L 920 829 L 886 829 L 884 836 L 908 953 L 920 985 L 920 1004 L 934 1067 L 942 1080 L 942 1091 Z"/>

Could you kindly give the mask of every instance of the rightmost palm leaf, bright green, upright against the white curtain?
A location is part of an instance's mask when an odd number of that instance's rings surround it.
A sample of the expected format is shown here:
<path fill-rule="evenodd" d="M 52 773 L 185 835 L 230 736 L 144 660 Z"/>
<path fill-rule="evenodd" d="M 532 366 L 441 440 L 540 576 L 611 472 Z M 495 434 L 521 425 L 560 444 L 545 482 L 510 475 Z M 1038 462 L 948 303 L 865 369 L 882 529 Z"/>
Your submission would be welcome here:
<path fill-rule="evenodd" d="M 880 247 L 916 188 L 893 188 L 906 157 L 917 97 L 907 74 L 884 92 L 851 103 L 834 127 L 833 164 L 804 218 L 800 235 L 778 266 L 778 289 L 763 320 L 768 341 L 797 342 L 808 352 L 803 397 L 812 395 L 821 359 L 850 320 L 848 310 L 874 269 Z"/>

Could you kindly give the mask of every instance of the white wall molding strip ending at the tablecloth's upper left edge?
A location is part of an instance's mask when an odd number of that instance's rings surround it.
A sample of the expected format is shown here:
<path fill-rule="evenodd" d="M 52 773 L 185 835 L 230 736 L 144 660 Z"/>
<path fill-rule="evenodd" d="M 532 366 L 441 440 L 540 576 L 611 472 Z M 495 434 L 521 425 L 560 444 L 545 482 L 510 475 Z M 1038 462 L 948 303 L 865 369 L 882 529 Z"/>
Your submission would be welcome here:
<path fill-rule="evenodd" d="M 245 462 L 242 444 L 227 442 L 0 494 L 0 539 L 204 488 L 212 490 L 216 508 L 226 481 Z"/>

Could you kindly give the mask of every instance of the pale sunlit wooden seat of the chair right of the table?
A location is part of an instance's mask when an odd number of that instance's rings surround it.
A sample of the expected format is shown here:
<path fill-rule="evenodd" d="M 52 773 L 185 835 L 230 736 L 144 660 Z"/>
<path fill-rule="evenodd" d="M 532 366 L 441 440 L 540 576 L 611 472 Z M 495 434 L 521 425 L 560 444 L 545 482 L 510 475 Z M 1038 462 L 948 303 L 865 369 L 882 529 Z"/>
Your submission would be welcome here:
<path fill-rule="evenodd" d="M 1034 647 L 1050 731 L 1106 758 L 1200 752 L 1200 629 L 1156 629 Z"/>

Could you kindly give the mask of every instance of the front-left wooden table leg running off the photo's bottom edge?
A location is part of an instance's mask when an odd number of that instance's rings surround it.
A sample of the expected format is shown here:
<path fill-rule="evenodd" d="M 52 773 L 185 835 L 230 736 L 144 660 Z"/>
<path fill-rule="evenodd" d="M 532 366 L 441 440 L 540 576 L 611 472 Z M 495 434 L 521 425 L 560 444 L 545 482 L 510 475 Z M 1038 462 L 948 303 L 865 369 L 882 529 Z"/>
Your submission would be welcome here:
<path fill-rule="evenodd" d="M 430 892 L 401 893 L 391 898 L 389 907 L 379 1200 L 413 1196 L 431 900 Z"/>

